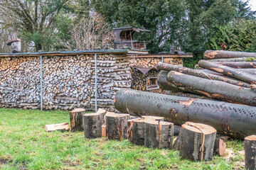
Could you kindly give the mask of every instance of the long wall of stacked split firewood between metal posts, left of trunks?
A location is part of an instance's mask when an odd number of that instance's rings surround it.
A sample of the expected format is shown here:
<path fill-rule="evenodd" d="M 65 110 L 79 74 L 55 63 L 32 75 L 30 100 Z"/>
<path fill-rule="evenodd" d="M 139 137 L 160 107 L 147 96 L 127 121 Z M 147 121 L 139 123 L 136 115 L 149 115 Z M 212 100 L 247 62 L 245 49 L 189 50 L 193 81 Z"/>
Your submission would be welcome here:
<path fill-rule="evenodd" d="M 40 57 L 1 57 L 0 107 L 40 108 Z M 95 108 L 95 55 L 43 57 L 43 108 Z M 97 55 L 97 105 L 114 111 L 114 94 L 131 86 L 126 55 Z"/>

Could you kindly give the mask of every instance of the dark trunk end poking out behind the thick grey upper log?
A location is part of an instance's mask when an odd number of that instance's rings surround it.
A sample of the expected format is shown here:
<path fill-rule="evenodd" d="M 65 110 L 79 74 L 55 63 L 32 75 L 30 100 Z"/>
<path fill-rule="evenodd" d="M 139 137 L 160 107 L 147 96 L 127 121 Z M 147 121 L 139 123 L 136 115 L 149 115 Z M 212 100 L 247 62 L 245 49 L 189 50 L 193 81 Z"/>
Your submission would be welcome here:
<path fill-rule="evenodd" d="M 179 92 L 182 91 L 181 89 L 177 89 L 175 86 L 172 86 L 171 83 L 167 81 L 167 74 L 168 72 L 161 70 L 159 72 L 158 77 L 157 77 L 157 83 L 159 84 L 159 88 L 166 90 L 166 91 L 174 91 L 174 92 Z"/>

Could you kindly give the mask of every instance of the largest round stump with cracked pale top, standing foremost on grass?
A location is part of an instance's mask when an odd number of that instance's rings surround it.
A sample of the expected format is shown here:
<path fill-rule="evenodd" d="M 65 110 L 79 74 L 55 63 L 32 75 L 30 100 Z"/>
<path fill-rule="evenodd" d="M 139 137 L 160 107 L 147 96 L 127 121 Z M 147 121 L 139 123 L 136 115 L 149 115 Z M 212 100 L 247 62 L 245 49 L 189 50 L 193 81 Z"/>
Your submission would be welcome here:
<path fill-rule="evenodd" d="M 182 125 L 180 156 L 192 161 L 210 160 L 216 136 L 215 128 L 201 123 L 186 122 Z"/>

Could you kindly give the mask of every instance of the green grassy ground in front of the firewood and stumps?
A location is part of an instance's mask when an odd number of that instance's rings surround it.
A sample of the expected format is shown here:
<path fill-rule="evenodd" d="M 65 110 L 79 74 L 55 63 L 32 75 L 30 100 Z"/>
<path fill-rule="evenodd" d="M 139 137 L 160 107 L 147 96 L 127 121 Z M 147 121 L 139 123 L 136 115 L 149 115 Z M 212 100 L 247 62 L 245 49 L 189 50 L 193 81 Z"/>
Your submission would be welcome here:
<path fill-rule="evenodd" d="M 243 169 L 242 141 L 227 141 L 225 157 L 181 160 L 178 151 L 151 149 L 83 132 L 46 132 L 44 125 L 69 121 L 67 111 L 0 108 L 1 169 Z"/>

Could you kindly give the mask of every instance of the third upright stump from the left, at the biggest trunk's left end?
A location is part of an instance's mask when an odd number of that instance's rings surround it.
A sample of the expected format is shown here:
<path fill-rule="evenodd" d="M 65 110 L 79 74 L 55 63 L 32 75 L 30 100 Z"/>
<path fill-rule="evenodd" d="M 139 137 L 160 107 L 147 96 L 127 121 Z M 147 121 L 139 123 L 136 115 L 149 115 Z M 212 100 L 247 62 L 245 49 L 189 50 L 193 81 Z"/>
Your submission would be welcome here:
<path fill-rule="evenodd" d="M 128 138 L 128 123 L 129 114 L 117 114 L 107 112 L 106 120 L 106 135 L 110 140 L 120 140 Z"/>

